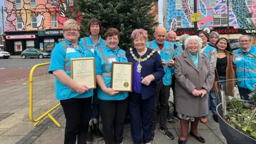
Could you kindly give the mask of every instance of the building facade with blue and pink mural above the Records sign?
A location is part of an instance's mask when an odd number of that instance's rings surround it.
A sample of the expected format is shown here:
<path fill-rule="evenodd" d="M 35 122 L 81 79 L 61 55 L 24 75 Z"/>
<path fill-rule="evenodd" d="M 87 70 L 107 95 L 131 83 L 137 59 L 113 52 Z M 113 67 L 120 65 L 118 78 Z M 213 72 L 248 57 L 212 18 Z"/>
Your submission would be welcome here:
<path fill-rule="evenodd" d="M 164 26 L 167 30 L 177 31 L 177 35 L 194 34 L 194 0 L 164 0 Z M 198 31 L 210 29 L 230 38 L 242 34 L 255 33 L 256 0 L 197 0 L 197 13 L 201 13 L 201 21 L 197 22 Z M 229 5 L 229 6 L 227 6 Z M 228 23 L 229 22 L 229 23 Z M 229 24 L 229 25 L 228 25 Z M 228 30 L 229 26 L 229 30 Z M 209 32 L 210 32 L 209 31 Z"/>

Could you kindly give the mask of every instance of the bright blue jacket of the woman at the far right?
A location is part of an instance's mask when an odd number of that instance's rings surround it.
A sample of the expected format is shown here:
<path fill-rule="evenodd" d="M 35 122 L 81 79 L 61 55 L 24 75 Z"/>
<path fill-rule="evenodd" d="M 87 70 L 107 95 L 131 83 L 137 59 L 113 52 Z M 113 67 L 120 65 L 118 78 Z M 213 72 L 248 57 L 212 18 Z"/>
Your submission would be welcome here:
<path fill-rule="evenodd" d="M 244 53 L 242 49 L 238 49 L 233 51 L 233 53 L 233 62 L 236 65 L 237 86 L 253 90 L 253 85 L 256 84 L 255 47 L 252 46 L 249 52 Z M 252 54 L 255 56 L 253 57 Z"/>

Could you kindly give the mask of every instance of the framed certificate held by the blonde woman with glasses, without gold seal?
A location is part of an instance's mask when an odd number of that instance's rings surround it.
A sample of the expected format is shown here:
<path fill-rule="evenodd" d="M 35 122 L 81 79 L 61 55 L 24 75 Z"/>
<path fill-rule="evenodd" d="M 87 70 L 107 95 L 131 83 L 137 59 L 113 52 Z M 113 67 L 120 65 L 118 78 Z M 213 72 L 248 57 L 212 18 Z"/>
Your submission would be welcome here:
<path fill-rule="evenodd" d="M 82 64 L 81 64 L 81 62 L 82 62 Z M 78 84 L 84 84 L 84 85 L 88 86 L 89 89 L 96 89 L 95 59 L 93 57 L 75 58 L 75 59 L 71 59 L 70 63 L 71 63 L 71 78 L 74 79 L 74 81 Z M 78 66 L 77 66 L 77 63 L 79 63 Z M 78 68 L 78 70 L 86 70 L 86 68 L 88 68 L 88 63 L 90 63 L 89 64 L 90 65 L 89 73 L 92 73 L 93 77 L 88 78 L 89 79 L 88 82 L 85 82 L 85 81 L 83 81 L 81 83 L 77 82 L 77 79 L 75 78 L 75 75 L 74 75 L 74 71 L 75 71 L 74 69 L 76 69 L 77 67 L 80 67 L 81 69 Z M 91 82 L 91 80 L 93 82 Z"/>

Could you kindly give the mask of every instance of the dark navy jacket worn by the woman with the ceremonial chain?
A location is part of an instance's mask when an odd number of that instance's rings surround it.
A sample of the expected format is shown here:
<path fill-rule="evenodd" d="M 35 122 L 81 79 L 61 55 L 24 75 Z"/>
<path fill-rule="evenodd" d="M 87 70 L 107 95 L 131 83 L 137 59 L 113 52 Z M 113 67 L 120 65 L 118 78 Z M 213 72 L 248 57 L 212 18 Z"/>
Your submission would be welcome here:
<path fill-rule="evenodd" d="M 147 56 L 149 53 L 151 53 L 152 50 L 148 49 L 147 52 L 142 55 L 141 58 L 144 58 L 143 56 Z M 139 58 L 140 55 L 138 52 L 133 48 L 133 53 L 135 54 L 135 57 Z M 128 59 L 128 62 L 132 62 L 133 66 L 135 66 L 135 61 L 130 53 L 130 50 L 126 51 L 126 58 Z M 141 79 L 148 75 L 153 75 L 155 77 L 155 81 L 152 81 L 148 86 L 142 84 L 141 86 L 141 94 L 142 99 L 148 99 L 151 97 L 155 97 L 156 94 L 156 84 L 159 82 L 163 76 L 164 76 L 164 68 L 161 62 L 160 55 L 155 52 L 148 60 L 140 62 L 141 68 Z"/>

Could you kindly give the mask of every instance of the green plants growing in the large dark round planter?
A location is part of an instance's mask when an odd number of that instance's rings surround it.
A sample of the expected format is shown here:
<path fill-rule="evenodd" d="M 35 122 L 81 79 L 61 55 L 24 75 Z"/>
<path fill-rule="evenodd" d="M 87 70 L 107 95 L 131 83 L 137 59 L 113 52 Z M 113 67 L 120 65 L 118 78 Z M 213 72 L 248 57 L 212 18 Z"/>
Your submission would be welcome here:
<path fill-rule="evenodd" d="M 254 91 L 256 91 L 254 89 Z M 240 98 L 227 99 L 226 121 L 235 129 L 256 139 L 256 105 Z"/>

